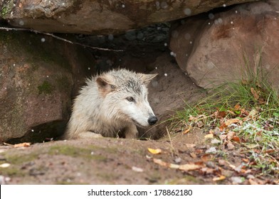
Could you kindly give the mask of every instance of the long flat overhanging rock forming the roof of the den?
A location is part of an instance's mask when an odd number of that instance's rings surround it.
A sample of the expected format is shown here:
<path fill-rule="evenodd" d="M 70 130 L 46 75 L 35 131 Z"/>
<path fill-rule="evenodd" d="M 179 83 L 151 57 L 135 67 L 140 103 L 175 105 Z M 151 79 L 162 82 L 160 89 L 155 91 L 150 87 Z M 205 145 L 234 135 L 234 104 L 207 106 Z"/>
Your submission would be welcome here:
<path fill-rule="evenodd" d="M 119 33 L 253 0 L 0 1 L 13 26 L 56 33 Z"/>

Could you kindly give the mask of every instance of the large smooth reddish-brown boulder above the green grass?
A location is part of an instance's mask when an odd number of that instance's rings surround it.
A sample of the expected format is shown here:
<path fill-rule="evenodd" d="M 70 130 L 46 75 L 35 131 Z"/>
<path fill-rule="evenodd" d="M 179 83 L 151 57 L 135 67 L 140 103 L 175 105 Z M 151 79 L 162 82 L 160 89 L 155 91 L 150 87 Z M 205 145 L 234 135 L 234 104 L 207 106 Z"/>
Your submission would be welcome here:
<path fill-rule="evenodd" d="M 255 73 L 263 69 L 278 87 L 278 9 L 279 1 L 269 0 L 187 18 L 173 28 L 170 48 L 179 67 L 200 87 L 247 80 L 247 64 Z"/>

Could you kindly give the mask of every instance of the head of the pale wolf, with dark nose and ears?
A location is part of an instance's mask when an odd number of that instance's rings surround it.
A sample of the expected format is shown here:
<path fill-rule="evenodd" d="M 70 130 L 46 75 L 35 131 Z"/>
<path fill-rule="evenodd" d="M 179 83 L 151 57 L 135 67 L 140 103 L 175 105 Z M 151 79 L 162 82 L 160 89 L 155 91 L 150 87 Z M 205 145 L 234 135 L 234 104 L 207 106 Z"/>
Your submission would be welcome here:
<path fill-rule="evenodd" d="M 103 98 L 101 109 L 107 121 L 132 122 L 147 127 L 157 122 L 147 100 L 147 85 L 157 74 L 112 70 L 95 79 Z"/>

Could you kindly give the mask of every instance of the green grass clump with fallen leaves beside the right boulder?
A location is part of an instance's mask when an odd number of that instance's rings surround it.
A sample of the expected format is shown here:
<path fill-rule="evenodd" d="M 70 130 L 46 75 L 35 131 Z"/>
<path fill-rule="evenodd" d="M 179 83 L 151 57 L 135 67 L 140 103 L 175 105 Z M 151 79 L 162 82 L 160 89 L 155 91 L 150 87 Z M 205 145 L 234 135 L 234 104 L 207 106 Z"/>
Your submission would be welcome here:
<path fill-rule="evenodd" d="M 268 82 L 268 74 L 263 71 L 260 50 L 256 64 L 249 63 L 244 53 L 243 60 L 243 75 L 238 82 L 207 90 L 208 97 L 196 104 L 186 104 L 171 119 L 170 129 L 172 132 L 195 127 L 206 132 L 220 129 L 223 134 L 235 131 L 241 139 L 239 147 L 255 162 L 248 167 L 262 169 L 263 173 L 278 173 L 278 90 Z M 239 119 L 241 124 L 224 126 L 229 119 Z M 267 153 L 268 150 L 271 152 Z"/>

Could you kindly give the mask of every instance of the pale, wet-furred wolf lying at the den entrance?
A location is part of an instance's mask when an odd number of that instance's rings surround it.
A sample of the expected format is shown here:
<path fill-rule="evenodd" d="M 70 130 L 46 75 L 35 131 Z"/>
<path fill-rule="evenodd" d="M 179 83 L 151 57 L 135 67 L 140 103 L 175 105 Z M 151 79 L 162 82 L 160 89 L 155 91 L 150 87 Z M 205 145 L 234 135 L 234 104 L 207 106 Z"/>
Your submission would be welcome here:
<path fill-rule="evenodd" d="M 136 139 L 137 127 L 158 120 L 147 100 L 147 85 L 156 75 L 118 69 L 88 78 L 74 99 L 63 139 Z"/>

